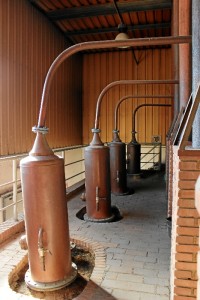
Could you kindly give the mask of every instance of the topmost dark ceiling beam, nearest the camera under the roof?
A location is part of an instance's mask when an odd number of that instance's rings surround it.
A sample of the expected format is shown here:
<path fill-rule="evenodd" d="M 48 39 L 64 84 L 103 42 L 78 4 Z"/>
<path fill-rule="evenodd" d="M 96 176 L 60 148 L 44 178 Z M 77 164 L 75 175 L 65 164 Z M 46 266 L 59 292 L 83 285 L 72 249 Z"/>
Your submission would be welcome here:
<path fill-rule="evenodd" d="M 39 2 L 31 0 L 31 3 L 39 7 Z M 138 0 L 134 2 L 118 2 L 120 13 L 130 13 L 149 10 L 172 9 L 172 0 Z M 92 18 L 103 15 L 117 14 L 113 3 L 78 6 L 72 8 L 58 9 L 54 11 L 45 12 L 45 14 L 52 20 L 58 21 L 62 19 L 76 19 L 76 18 Z"/>

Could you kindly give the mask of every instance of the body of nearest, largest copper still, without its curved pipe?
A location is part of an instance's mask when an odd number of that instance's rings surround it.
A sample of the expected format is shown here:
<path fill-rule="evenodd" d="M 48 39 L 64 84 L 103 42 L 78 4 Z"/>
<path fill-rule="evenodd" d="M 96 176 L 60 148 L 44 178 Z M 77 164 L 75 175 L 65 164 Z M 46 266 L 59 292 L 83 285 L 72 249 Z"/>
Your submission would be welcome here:
<path fill-rule="evenodd" d="M 45 128 L 37 133 L 29 156 L 20 162 L 29 270 L 26 284 L 51 291 L 77 275 L 71 261 L 64 161 L 47 144 Z"/>

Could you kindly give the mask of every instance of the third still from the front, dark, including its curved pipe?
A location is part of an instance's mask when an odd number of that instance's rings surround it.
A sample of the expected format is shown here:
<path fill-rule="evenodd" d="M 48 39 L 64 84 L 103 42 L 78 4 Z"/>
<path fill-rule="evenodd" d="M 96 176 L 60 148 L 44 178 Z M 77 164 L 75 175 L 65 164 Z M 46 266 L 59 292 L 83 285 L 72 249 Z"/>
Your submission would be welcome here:
<path fill-rule="evenodd" d="M 111 192 L 115 195 L 126 195 L 129 190 L 127 188 L 127 172 L 126 172 L 126 144 L 123 143 L 119 136 L 118 129 L 118 111 L 119 107 L 125 100 L 140 98 L 170 98 L 165 95 L 127 95 L 122 97 L 115 106 L 115 125 L 113 129 L 113 140 L 108 144 L 110 148 L 110 176 L 111 176 Z M 138 144 L 139 145 L 139 144 Z M 140 149 L 139 149 L 140 153 Z"/>

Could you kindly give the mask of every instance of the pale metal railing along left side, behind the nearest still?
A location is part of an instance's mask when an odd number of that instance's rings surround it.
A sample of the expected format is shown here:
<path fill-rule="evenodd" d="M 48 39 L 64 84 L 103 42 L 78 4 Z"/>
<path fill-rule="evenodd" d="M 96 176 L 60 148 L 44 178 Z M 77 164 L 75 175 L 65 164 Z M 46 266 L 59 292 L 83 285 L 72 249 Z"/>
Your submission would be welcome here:
<path fill-rule="evenodd" d="M 74 147 L 53 149 L 54 153 L 60 155 L 64 159 L 66 192 L 69 186 L 85 178 L 85 170 L 83 163 L 84 147 L 84 145 L 80 145 Z M 71 152 L 71 154 L 66 155 L 67 152 L 69 154 L 69 151 Z M 23 211 L 23 198 L 21 191 L 19 162 L 23 157 L 26 156 L 27 153 L 0 158 L 1 166 L 2 164 L 5 164 L 5 166 L 9 166 L 7 167 L 7 169 L 8 173 L 10 174 L 8 174 L 7 177 L 12 177 L 12 180 L 5 180 L 4 183 L 0 184 L 0 224 L 10 218 L 17 221 L 18 214 Z M 21 206 L 19 208 L 20 204 Z"/>

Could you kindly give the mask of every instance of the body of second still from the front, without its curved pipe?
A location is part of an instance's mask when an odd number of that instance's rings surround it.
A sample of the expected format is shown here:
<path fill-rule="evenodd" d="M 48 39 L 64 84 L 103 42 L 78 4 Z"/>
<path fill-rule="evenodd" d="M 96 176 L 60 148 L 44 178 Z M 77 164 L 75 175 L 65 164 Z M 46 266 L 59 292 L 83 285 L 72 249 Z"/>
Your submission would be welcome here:
<path fill-rule="evenodd" d="M 99 137 L 99 129 L 93 129 L 93 140 L 85 148 L 85 220 L 110 222 L 114 215 L 111 209 L 109 148 Z"/>

